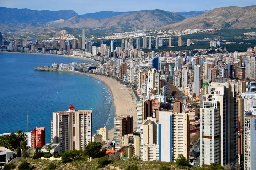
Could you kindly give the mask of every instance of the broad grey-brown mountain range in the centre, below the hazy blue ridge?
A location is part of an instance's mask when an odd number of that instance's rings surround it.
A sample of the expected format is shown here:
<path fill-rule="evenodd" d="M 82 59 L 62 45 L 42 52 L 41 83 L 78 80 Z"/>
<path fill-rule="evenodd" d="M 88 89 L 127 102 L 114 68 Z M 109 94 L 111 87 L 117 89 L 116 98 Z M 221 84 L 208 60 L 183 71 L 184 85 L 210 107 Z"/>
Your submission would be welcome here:
<path fill-rule="evenodd" d="M 185 19 L 183 16 L 163 10 L 146 10 L 125 13 L 111 18 L 94 19 L 73 17 L 46 23 L 48 27 L 70 27 L 85 29 L 102 29 L 123 32 L 138 29 L 156 29 L 167 24 Z"/>

